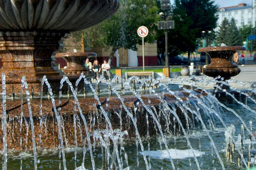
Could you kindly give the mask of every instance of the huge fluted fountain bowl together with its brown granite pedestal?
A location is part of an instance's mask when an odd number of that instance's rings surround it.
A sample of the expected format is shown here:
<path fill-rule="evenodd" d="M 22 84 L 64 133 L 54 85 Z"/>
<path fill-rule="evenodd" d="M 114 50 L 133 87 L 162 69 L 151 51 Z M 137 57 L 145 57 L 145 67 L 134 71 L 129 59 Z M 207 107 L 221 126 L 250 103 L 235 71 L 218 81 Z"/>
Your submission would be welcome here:
<path fill-rule="evenodd" d="M 28 85 L 40 92 L 44 75 L 58 89 L 64 74 L 55 67 L 55 54 L 63 49 L 70 31 L 107 19 L 117 11 L 119 1 L 4 0 L 0 8 L 0 72 L 6 75 L 6 90 L 12 92 L 14 86 L 20 91 L 20 79 L 26 76 Z"/>

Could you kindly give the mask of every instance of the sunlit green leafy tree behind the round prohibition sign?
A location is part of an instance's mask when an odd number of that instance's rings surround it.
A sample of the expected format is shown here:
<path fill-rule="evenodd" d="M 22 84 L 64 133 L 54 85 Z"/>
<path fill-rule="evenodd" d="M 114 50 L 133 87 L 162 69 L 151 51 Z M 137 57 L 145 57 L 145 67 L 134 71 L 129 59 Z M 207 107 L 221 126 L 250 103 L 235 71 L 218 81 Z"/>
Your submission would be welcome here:
<path fill-rule="evenodd" d="M 153 43 L 156 40 L 154 30 L 157 28 L 156 23 L 159 20 L 157 15 L 159 8 L 156 1 L 129 0 L 120 3 L 119 11 L 102 23 L 106 34 L 106 45 L 112 48 L 109 63 L 119 48 L 137 51 L 137 44 L 142 41 L 142 38 L 137 35 L 137 29 L 140 26 L 148 28 L 149 33 L 144 38 L 144 42 Z"/>

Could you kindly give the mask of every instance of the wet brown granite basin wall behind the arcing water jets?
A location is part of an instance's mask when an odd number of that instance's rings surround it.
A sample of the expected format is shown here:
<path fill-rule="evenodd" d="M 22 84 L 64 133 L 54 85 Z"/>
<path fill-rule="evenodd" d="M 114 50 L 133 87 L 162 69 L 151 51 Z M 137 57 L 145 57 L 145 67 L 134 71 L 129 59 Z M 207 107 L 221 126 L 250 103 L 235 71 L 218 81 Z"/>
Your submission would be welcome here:
<path fill-rule="evenodd" d="M 200 90 L 197 90 L 200 92 Z M 179 92 L 179 96 L 183 96 L 183 100 L 188 97 L 187 93 L 181 91 Z M 194 92 L 197 96 L 200 96 L 200 93 Z M 163 98 L 167 102 L 176 102 L 174 96 L 169 93 L 166 93 Z M 154 128 L 154 121 L 151 115 L 145 110 L 141 102 L 137 105 L 137 97 L 135 96 L 124 96 L 124 103 L 128 110 L 133 114 L 134 118 L 137 119 L 137 127 L 139 129 L 139 133 L 141 136 L 147 135 L 147 121 L 146 114 L 148 114 L 149 120 L 149 133 L 150 135 L 155 135 L 156 130 Z M 156 108 L 157 113 L 159 113 L 160 109 L 163 109 L 164 106 L 161 105 L 160 99 L 155 97 L 154 95 L 143 95 L 143 102 L 147 107 L 154 106 Z M 148 102 L 150 99 L 150 103 Z M 192 98 L 189 98 L 192 99 Z M 128 137 L 135 137 L 134 126 L 132 125 L 131 119 L 128 114 L 124 111 L 121 101 L 116 97 L 110 97 L 109 100 L 106 98 L 100 98 L 100 102 L 102 103 L 103 108 L 108 113 L 108 117 L 111 120 L 111 125 L 113 129 L 120 128 L 120 119 L 116 114 L 121 114 L 122 117 L 122 130 L 128 131 Z M 134 102 L 136 102 L 134 106 Z M 76 131 L 77 131 L 77 142 L 78 145 L 82 145 L 82 141 L 86 136 L 85 126 L 83 120 L 81 119 L 81 115 L 79 113 L 78 107 L 74 110 L 74 100 L 72 99 L 63 99 L 61 100 L 61 104 L 58 103 L 58 100 L 55 100 L 56 108 L 61 115 L 61 126 L 62 126 L 62 136 L 64 140 L 64 144 L 68 146 L 74 146 L 75 133 L 74 133 L 74 115 L 76 115 Z M 102 112 L 99 109 L 99 105 L 94 98 L 85 98 L 79 99 L 79 104 L 82 110 L 83 115 L 85 116 L 89 132 L 93 133 L 95 129 L 104 130 L 106 127 L 106 120 L 103 116 Z M 21 110 L 20 110 L 20 101 L 8 101 L 6 103 L 6 113 L 7 113 L 7 148 L 13 150 L 30 150 L 32 149 L 32 131 L 31 125 L 29 124 L 29 108 L 28 103 L 23 100 L 22 104 L 22 113 L 23 117 L 20 119 Z M 134 110 L 134 107 L 137 108 L 137 111 Z M 0 107 L 0 109 L 3 109 Z M 153 109 L 154 110 L 154 109 Z M 39 115 L 40 111 L 40 101 L 33 100 L 31 101 L 31 111 L 33 115 L 34 128 L 35 128 L 35 141 L 37 149 L 43 148 L 52 148 L 58 147 L 59 139 L 58 139 L 58 125 L 55 118 L 55 113 L 52 107 L 52 101 L 44 100 L 42 105 L 42 116 Z M 177 114 L 180 117 L 183 126 L 186 128 L 186 119 L 184 114 L 177 107 Z M 0 117 L 2 119 L 2 115 Z M 42 125 L 40 126 L 40 119 L 42 120 Z M 95 122 L 94 122 L 95 119 Z M 173 116 L 170 116 L 170 120 L 173 119 Z M 22 123 L 21 123 L 22 121 Z M 173 129 L 172 124 L 166 124 L 166 118 L 159 118 L 160 124 L 163 127 L 163 131 L 169 129 Z M 3 121 L 0 121 L 0 125 L 2 125 Z M 170 121 L 172 122 L 172 121 Z M 20 130 L 21 123 L 21 130 Z M 165 128 L 169 126 L 169 128 Z M 177 125 L 178 127 L 178 125 Z M 65 136 L 64 136 L 65 134 Z M 41 143 L 40 141 L 41 135 Z M 0 131 L 0 136 L 3 136 L 3 131 Z M 20 146 L 20 138 L 22 139 L 22 144 Z M 2 150 L 3 145 L 0 145 L 0 150 Z"/>

